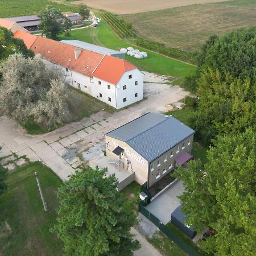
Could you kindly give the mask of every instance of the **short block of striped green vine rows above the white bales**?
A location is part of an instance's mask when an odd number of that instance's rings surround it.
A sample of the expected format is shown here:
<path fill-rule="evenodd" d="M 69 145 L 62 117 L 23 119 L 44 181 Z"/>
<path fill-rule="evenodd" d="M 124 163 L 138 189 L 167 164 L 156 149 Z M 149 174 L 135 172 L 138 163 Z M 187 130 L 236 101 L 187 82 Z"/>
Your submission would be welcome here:
<path fill-rule="evenodd" d="M 119 20 L 112 13 L 102 12 L 101 15 L 102 18 L 104 18 L 109 26 L 114 30 L 114 32 L 117 33 L 117 35 L 121 38 L 135 35 L 134 31 L 127 29 L 125 25 L 119 22 Z"/>

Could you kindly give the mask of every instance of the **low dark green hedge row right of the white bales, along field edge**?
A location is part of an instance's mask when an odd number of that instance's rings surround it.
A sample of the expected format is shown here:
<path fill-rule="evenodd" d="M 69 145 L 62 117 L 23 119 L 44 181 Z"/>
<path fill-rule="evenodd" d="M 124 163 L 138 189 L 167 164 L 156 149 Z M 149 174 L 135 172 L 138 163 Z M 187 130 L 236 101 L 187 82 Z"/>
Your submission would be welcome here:
<path fill-rule="evenodd" d="M 195 58 L 193 57 L 193 55 L 191 53 L 185 52 L 181 49 L 166 47 L 163 44 L 150 42 L 150 41 L 144 40 L 142 38 L 137 38 L 136 44 L 137 44 L 137 46 L 141 46 L 143 48 L 150 49 L 154 52 L 159 52 L 163 55 L 173 57 L 178 60 L 195 63 L 195 60 L 194 60 Z"/>

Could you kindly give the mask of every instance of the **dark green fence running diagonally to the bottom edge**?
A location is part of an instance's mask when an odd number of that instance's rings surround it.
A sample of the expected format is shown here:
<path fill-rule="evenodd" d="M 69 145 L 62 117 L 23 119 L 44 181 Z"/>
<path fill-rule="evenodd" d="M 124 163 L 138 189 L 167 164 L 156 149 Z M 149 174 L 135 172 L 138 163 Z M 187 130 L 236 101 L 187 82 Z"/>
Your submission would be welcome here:
<path fill-rule="evenodd" d="M 139 203 L 139 212 L 141 212 L 148 220 L 150 220 L 152 223 L 154 223 L 158 228 L 172 241 L 176 243 L 177 246 L 179 246 L 185 253 L 191 256 L 200 256 L 199 253 L 195 249 L 193 249 L 190 245 L 188 245 L 186 242 L 181 240 L 180 237 L 177 237 L 174 232 L 172 232 L 171 229 L 168 229 L 167 226 L 162 224 L 160 222 L 159 218 L 155 217 L 154 214 L 150 213 L 144 206 L 147 204 L 144 201 L 141 201 Z"/>

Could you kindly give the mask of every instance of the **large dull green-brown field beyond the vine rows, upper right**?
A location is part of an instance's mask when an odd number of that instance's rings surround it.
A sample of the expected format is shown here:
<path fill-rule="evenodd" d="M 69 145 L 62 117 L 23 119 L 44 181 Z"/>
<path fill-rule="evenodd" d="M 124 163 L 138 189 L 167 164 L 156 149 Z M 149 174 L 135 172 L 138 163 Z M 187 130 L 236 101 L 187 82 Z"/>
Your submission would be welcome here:
<path fill-rule="evenodd" d="M 210 35 L 224 35 L 238 28 L 256 26 L 255 8 L 255 0 L 237 0 L 123 17 L 133 22 L 138 37 L 193 51 L 200 49 Z"/>

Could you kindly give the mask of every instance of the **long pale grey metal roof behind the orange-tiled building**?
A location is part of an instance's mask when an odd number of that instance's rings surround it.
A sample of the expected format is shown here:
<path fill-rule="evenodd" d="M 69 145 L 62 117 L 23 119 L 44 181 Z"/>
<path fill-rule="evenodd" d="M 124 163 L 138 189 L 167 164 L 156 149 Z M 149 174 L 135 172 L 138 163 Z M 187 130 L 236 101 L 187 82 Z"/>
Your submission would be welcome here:
<path fill-rule="evenodd" d="M 81 42 L 79 40 L 61 40 L 60 42 L 65 44 L 70 44 L 71 46 L 76 46 L 92 52 L 101 53 L 101 54 L 108 54 L 108 55 L 121 54 L 121 52 L 115 51 L 113 49 L 105 48 L 102 46 L 96 46 L 95 44 L 89 44 L 89 43 Z"/>

